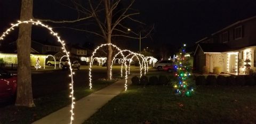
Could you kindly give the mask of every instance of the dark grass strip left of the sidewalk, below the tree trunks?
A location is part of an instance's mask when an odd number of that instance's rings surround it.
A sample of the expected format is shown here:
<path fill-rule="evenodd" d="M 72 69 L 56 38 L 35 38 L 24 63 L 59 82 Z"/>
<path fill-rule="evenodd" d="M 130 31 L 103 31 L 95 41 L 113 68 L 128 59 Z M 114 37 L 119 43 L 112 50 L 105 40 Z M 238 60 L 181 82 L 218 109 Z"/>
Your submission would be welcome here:
<path fill-rule="evenodd" d="M 93 89 L 89 87 L 75 88 L 74 95 L 76 100 L 87 96 L 96 90 L 112 84 L 113 81 L 95 81 Z M 57 111 L 71 103 L 69 96 L 70 91 L 65 90 L 58 94 L 49 94 L 44 97 L 34 99 L 35 108 L 17 107 L 14 105 L 0 108 L 0 123 L 31 123 L 47 114 Z"/>

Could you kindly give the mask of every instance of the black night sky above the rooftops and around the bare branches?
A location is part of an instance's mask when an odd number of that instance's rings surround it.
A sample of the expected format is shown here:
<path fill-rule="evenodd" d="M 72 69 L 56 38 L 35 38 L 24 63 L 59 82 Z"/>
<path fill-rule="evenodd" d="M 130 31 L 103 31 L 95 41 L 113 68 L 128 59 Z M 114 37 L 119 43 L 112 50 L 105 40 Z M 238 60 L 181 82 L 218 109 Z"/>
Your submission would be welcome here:
<path fill-rule="evenodd" d="M 67 1 L 61 3 L 68 4 Z M 51 20 L 73 20 L 76 11 L 68 9 L 55 0 L 35 0 L 34 18 Z M 127 2 L 127 1 L 126 1 Z M 123 3 L 125 6 L 126 3 Z M 134 9 L 140 11 L 138 20 L 148 26 L 155 24 L 152 39 L 142 39 L 142 48 L 180 46 L 182 43 L 193 45 L 197 40 L 212 34 L 236 21 L 256 15 L 256 0 L 137 0 Z M 11 22 L 19 19 L 20 0 L 0 1 L 0 31 L 3 32 Z M 130 23 L 126 21 L 126 25 Z M 53 27 L 59 24 L 49 23 Z M 131 23 L 131 27 L 134 27 Z M 70 29 L 56 28 L 60 36 L 69 43 L 94 42 L 92 34 Z M 138 32 L 138 31 L 135 31 Z M 45 35 L 48 31 L 36 28 L 33 39 L 53 40 Z M 14 36 L 9 36 L 14 37 Z M 138 49 L 138 40 L 130 39 L 130 49 Z M 157 45 L 156 45 L 157 44 Z M 129 48 L 128 48 L 129 49 Z"/>

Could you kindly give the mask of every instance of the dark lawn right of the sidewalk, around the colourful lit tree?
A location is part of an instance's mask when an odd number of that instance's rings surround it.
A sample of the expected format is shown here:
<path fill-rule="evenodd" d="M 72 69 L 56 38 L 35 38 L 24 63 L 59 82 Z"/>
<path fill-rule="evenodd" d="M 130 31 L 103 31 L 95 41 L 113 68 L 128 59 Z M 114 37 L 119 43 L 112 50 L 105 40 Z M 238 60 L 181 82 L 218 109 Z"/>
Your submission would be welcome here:
<path fill-rule="evenodd" d="M 256 123 L 255 88 L 198 86 L 180 97 L 171 86 L 130 86 L 84 123 Z"/>

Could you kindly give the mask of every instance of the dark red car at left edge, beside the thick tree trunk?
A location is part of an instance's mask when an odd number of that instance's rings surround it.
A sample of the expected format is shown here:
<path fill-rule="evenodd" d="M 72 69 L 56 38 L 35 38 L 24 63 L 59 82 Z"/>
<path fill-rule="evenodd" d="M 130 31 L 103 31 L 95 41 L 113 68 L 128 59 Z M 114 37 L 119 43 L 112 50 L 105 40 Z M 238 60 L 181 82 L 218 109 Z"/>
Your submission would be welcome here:
<path fill-rule="evenodd" d="M 17 76 L 0 68 L 0 101 L 13 98 L 17 90 Z"/>

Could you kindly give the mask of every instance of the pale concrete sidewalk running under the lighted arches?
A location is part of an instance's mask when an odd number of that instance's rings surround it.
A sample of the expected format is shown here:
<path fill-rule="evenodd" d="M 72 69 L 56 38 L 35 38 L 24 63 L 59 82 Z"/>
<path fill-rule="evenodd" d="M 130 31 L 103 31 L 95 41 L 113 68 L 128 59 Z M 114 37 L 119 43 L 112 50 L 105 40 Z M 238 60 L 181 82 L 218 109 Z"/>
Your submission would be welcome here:
<path fill-rule="evenodd" d="M 127 79 L 127 85 L 131 84 L 131 75 Z M 76 101 L 74 109 L 74 124 L 81 124 L 97 112 L 103 105 L 124 90 L 125 80 L 119 80 L 81 100 Z M 33 122 L 34 124 L 68 124 L 70 122 L 70 105 L 55 111 L 46 117 Z"/>

